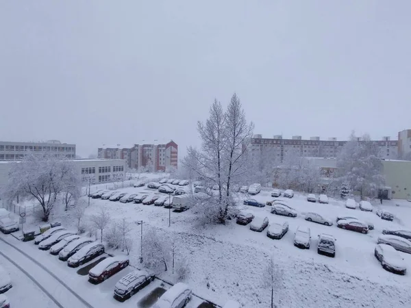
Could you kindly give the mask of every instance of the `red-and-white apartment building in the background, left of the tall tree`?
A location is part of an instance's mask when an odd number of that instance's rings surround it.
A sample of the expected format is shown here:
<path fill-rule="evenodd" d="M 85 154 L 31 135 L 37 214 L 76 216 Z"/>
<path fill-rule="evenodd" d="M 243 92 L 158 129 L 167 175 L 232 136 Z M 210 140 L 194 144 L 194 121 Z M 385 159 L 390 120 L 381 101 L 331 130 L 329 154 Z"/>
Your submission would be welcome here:
<path fill-rule="evenodd" d="M 148 168 L 153 171 L 165 171 L 178 166 L 178 146 L 173 140 L 147 142 L 142 140 L 132 146 L 101 147 L 98 157 L 106 159 L 125 159 L 128 168 Z"/>

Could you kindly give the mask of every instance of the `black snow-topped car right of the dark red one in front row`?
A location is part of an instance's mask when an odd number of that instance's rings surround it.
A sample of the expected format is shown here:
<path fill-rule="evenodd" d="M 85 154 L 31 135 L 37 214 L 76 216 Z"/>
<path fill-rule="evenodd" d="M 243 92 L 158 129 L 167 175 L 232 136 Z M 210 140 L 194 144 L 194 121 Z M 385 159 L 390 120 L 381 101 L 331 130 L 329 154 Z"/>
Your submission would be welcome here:
<path fill-rule="evenodd" d="M 130 272 L 116 283 L 114 287 L 114 298 L 120 301 L 130 298 L 143 287 L 149 285 L 153 280 L 154 276 L 146 270 Z"/>

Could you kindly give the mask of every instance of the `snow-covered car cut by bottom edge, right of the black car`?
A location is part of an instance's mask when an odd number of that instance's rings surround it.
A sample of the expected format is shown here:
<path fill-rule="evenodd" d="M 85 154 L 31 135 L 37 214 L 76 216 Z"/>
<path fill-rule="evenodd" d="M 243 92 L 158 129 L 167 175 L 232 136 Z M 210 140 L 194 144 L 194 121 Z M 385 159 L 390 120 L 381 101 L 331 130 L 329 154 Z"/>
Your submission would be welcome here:
<path fill-rule="evenodd" d="M 167 290 L 153 308 L 181 308 L 184 307 L 192 296 L 190 287 L 185 283 L 176 283 Z"/>

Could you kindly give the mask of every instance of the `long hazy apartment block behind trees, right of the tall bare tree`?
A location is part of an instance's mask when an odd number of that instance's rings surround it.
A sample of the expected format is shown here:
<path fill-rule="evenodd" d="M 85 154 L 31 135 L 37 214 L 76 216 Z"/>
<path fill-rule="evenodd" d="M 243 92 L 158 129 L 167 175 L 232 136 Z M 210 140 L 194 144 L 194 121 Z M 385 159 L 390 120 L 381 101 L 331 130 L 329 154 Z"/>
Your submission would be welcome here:
<path fill-rule="evenodd" d="M 361 140 L 359 139 L 361 142 Z M 397 159 L 398 140 L 390 140 L 384 137 L 382 140 L 374 140 L 379 146 L 379 157 L 382 159 Z M 292 136 L 291 139 L 283 139 L 282 136 L 273 138 L 262 138 L 262 135 L 255 135 L 251 138 L 251 153 L 260 153 L 264 149 L 270 149 L 271 155 L 275 155 L 279 162 L 284 160 L 287 153 L 297 152 L 304 157 L 336 157 L 347 141 L 338 141 L 336 138 L 320 140 L 320 137 L 302 139 L 301 136 Z M 260 152 L 257 152 L 260 151 Z"/>

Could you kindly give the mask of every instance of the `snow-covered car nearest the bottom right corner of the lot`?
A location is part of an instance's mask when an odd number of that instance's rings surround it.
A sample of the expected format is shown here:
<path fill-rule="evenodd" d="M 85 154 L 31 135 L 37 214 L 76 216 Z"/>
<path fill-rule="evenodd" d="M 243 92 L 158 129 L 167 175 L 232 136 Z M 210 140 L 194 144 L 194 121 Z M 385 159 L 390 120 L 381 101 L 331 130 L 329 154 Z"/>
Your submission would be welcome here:
<path fill-rule="evenodd" d="M 393 246 L 387 244 L 377 244 L 374 249 L 374 255 L 381 263 L 384 270 L 395 274 L 404 275 L 407 272 L 407 267 L 401 255 Z"/>

